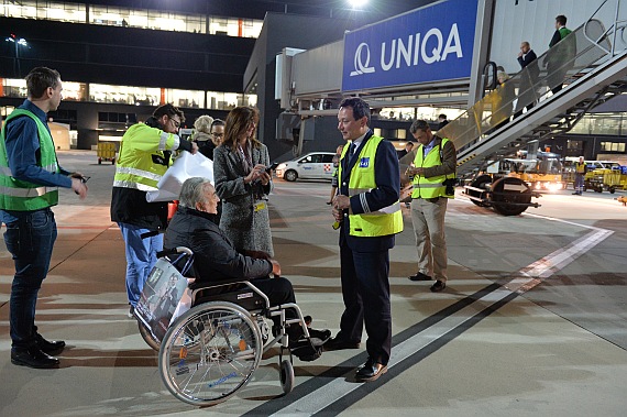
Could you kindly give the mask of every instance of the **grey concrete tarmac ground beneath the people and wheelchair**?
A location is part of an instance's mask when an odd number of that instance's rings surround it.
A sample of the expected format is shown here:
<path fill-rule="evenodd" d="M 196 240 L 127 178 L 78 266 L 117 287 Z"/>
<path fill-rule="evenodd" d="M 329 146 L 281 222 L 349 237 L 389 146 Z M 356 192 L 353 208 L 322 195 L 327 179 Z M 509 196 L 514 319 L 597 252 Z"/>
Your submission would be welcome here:
<path fill-rule="evenodd" d="M 624 416 L 627 406 L 627 207 L 619 194 L 572 190 L 502 217 L 459 196 L 449 205 L 449 283 L 413 283 L 409 213 L 391 251 L 393 358 L 374 383 L 355 383 L 362 349 L 295 359 L 282 396 L 271 351 L 252 382 L 213 407 L 177 400 L 157 353 L 127 317 L 124 249 L 109 218 L 114 166 L 91 151 L 59 152 L 91 176 L 89 197 L 61 193 L 58 239 L 36 322 L 64 339 L 61 369 L 10 361 L 13 264 L 0 242 L 0 416 Z M 329 183 L 275 180 L 270 199 L 276 259 L 314 327 L 337 332 L 343 310 Z M 460 193 L 460 190 L 458 190 Z M 3 230 L 2 230 L 3 232 Z"/>

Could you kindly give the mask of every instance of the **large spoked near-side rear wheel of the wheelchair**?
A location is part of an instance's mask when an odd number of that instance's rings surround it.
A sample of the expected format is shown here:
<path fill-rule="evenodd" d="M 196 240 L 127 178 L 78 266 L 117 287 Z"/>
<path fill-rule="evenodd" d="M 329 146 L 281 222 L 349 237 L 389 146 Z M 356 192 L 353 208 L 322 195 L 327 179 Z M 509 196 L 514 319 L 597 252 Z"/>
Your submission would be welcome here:
<path fill-rule="evenodd" d="M 251 315 L 231 303 L 194 307 L 165 334 L 158 369 L 167 389 L 196 406 L 221 403 L 258 366 L 263 342 Z"/>

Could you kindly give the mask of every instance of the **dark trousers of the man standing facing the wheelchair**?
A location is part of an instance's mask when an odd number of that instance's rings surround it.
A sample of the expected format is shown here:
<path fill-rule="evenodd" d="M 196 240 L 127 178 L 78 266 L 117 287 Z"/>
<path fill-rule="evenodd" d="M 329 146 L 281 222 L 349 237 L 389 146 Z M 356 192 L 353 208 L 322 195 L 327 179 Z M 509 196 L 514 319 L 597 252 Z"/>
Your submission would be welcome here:
<path fill-rule="evenodd" d="M 388 250 L 358 252 L 340 245 L 344 312 L 338 338 L 359 342 L 365 323 L 366 351 L 375 362 L 387 365 L 392 351 Z"/>

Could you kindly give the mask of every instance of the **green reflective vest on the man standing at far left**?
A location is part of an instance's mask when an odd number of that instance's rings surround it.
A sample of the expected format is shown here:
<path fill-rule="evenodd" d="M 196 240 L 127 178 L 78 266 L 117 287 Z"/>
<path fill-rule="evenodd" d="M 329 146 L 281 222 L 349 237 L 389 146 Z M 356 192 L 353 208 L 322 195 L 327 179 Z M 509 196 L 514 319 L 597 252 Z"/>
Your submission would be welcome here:
<path fill-rule="evenodd" d="M 18 117 L 30 117 L 37 124 L 40 139 L 40 166 L 51 173 L 58 173 L 54 142 L 45 124 L 29 110 L 15 109 L 7 118 L 0 133 L 0 209 L 15 211 L 33 211 L 58 204 L 58 187 L 45 187 L 25 180 L 15 179 L 9 167 L 7 155 L 7 124 Z"/>

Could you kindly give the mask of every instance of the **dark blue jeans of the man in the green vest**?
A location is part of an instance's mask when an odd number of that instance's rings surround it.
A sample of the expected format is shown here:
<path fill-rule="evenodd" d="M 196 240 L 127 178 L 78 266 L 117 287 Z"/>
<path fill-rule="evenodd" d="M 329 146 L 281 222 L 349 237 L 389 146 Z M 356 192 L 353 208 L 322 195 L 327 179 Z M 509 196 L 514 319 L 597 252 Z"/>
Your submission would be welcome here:
<path fill-rule="evenodd" d="M 35 306 L 42 282 L 47 275 L 56 222 L 50 208 L 36 211 L 10 211 L 4 242 L 15 263 L 11 285 L 10 333 L 12 349 L 23 350 L 35 345 Z"/>

